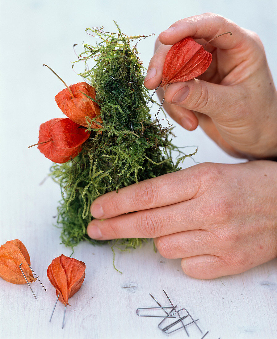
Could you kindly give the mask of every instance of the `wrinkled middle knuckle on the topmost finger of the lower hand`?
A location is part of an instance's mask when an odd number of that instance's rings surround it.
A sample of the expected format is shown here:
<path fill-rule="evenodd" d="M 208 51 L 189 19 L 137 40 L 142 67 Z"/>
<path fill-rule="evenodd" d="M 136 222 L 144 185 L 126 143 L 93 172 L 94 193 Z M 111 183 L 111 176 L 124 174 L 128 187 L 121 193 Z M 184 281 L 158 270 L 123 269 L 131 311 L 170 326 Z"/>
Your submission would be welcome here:
<path fill-rule="evenodd" d="M 134 194 L 134 204 L 142 207 L 153 205 L 158 194 L 158 188 L 150 181 L 139 183 Z"/>

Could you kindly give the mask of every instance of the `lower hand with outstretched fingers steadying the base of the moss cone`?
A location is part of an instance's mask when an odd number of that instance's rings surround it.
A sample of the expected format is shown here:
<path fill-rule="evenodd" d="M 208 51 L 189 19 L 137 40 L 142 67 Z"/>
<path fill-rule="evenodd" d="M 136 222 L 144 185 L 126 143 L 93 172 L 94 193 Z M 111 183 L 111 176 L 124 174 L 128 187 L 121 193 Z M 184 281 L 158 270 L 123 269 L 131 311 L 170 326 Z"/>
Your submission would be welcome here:
<path fill-rule="evenodd" d="M 237 274 L 277 256 L 277 163 L 203 163 L 98 197 L 93 239 L 155 238 L 200 279 Z M 133 212 L 133 213 L 131 213 Z M 127 214 L 126 214 L 127 213 Z"/>

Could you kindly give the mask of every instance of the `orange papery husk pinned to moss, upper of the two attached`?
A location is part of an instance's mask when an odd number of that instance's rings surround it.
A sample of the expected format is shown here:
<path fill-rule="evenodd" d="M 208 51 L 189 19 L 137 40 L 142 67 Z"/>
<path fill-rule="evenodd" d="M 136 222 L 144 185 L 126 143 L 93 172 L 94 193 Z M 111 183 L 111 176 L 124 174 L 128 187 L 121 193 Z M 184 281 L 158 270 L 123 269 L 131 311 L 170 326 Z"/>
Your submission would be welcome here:
<path fill-rule="evenodd" d="M 99 116 L 100 107 L 90 99 L 95 100 L 94 87 L 86 82 L 78 82 L 69 86 L 69 88 L 71 93 L 65 88 L 55 96 L 56 103 L 62 112 L 72 121 L 85 127 L 88 127 L 87 120 L 89 121 L 96 117 L 96 121 L 102 123 L 102 119 Z M 97 122 L 91 121 L 90 127 L 101 127 Z"/>

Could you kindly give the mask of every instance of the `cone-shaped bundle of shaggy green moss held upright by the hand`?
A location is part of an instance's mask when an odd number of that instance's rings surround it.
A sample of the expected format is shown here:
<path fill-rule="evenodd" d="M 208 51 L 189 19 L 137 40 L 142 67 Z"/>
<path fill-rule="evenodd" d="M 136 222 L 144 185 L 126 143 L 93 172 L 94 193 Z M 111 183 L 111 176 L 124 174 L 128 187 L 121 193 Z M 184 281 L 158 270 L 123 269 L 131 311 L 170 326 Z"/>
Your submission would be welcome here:
<path fill-rule="evenodd" d="M 101 41 L 97 46 L 84 44 L 80 59 L 85 60 L 85 71 L 80 75 L 96 89 L 95 100 L 101 107 L 103 124 L 99 129 L 88 128 L 91 135 L 77 157 L 51 168 L 51 175 L 62 190 L 57 220 L 62 228 L 61 239 L 71 247 L 82 240 L 92 244 L 108 242 L 92 240 L 86 232 L 94 199 L 177 171 L 179 162 L 186 157 L 173 163 L 171 153 L 178 149 L 172 144 L 172 127 L 161 127 L 146 106 L 149 93 L 143 85 L 144 68 L 133 44 L 143 37 L 127 37 L 119 28 L 119 33 L 110 34 L 101 29 L 87 30 Z M 92 57 L 95 65 L 89 69 L 87 60 Z M 143 241 L 146 239 L 117 239 L 111 245 L 136 248 Z"/>

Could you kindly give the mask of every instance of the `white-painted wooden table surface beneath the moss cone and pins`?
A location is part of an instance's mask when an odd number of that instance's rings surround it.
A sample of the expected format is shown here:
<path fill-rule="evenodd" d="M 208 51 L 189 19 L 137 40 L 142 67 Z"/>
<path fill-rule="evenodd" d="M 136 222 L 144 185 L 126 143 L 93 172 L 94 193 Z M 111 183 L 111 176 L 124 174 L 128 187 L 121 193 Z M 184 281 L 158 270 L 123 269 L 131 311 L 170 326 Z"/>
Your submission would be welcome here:
<path fill-rule="evenodd" d="M 214 280 L 186 276 L 180 260 L 162 258 L 149 242 L 130 253 L 116 252 L 116 272 L 109 246 L 81 243 L 74 257 L 86 263 L 86 278 L 69 302 L 62 330 L 64 306 L 57 304 L 47 279 L 47 267 L 71 249 L 60 244 L 55 223 L 58 186 L 47 179 L 50 161 L 36 148 L 42 122 L 62 117 L 54 96 L 63 87 L 42 67 L 51 66 L 67 83 L 80 79 L 72 72 L 75 60 L 72 45 L 88 41 L 86 27 L 104 25 L 114 31 L 116 20 L 128 35 L 159 33 L 174 21 L 204 12 L 219 13 L 243 27 L 256 31 L 265 46 L 276 83 L 277 29 L 276 1 L 239 1 L 223 4 L 211 1 L 24 1 L 2 3 L 1 11 L 1 228 L 0 245 L 20 239 L 27 247 L 31 266 L 44 283 L 14 285 L 0 279 L 0 338 L 166 338 L 157 324 L 159 318 L 136 315 L 138 307 L 154 307 L 153 296 L 163 305 L 165 290 L 174 304 L 187 308 L 205 338 L 277 338 L 277 259 L 245 273 Z M 92 43 L 93 41 L 90 40 Z M 147 66 L 155 38 L 138 46 Z M 81 66 L 79 70 L 82 70 Z M 235 163 L 210 141 L 200 129 L 186 132 L 176 127 L 178 145 L 197 145 L 197 162 Z M 189 150 L 194 149 L 194 147 Z M 185 166 L 192 166 L 188 159 Z M 201 338 L 190 325 L 190 338 Z M 198 332 L 197 332 L 198 331 Z M 186 338 L 184 330 L 169 335 Z"/>

